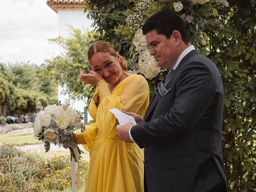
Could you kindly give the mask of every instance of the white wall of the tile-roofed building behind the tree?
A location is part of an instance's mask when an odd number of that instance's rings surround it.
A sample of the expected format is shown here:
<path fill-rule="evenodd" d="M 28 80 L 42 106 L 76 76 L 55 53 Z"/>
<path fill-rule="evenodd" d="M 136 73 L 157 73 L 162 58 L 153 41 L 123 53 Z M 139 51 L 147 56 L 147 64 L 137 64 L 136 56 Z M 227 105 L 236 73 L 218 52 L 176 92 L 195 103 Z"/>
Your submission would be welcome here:
<path fill-rule="evenodd" d="M 82 30 L 92 30 L 90 27 L 92 24 L 91 20 L 88 20 L 86 13 L 84 14 L 83 10 L 63 10 L 58 11 L 58 29 L 59 29 L 59 35 L 67 38 L 69 36 L 69 27 L 67 26 L 71 25 L 74 28 L 80 28 Z M 64 52 L 62 47 L 59 47 L 59 53 Z M 61 86 L 58 86 L 58 100 L 60 100 L 62 103 L 69 101 L 72 107 L 74 107 L 76 110 L 80 112 L 84 112 L 84 107 L 86 106 L 85 103 L 82 100 L 68 100 L 68 96 L 62 94 L 62 90 L 64 88 Z M 88 113 L 88 121 L 91 120 Z"/>

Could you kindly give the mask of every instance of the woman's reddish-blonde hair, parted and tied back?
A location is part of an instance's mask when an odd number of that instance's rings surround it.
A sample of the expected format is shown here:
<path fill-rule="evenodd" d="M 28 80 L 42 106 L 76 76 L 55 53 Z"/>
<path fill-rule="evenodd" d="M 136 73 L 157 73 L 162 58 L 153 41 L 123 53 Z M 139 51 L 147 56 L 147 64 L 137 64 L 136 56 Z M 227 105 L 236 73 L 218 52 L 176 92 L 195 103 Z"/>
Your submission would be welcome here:
<path fill-rule="evenodd" d="M 100 41 L 96 41 L 94 44 L 92 44 L 89 47 L 88 53 L 87 53 L 89 62 L 92 56 L 94 56 L 94 54 L 98 52 L 109 53 L 110 55 L 116 57 L 116 50 L 108 42 L 100 40 Z M 120 65 L 122 69 L 126 71 L 126 68 L 127 68 L 126 58 L 124 58 L 123 56 L 120 56 L 120 60 L 121 60 Z"/>

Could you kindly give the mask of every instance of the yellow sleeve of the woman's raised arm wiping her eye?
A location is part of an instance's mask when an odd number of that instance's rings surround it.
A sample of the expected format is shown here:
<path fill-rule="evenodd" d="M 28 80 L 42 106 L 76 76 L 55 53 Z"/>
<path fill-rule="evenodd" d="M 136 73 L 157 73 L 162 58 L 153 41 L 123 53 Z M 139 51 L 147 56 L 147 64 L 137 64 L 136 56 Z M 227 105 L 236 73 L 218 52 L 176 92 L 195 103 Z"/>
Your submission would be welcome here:
<path fill-rule="evenodd" d="M 139 75 L 128 77 L 121 86 L 110 93 L 106 83 L 97 86 L 101 103 L 98 106 L 96 126 L 108 138 L 112 138 L 116 132 L 116 117 L 109 112 L 112 108 L 137 113 L 149 96 L 149 88 L 146 79 Z"/>

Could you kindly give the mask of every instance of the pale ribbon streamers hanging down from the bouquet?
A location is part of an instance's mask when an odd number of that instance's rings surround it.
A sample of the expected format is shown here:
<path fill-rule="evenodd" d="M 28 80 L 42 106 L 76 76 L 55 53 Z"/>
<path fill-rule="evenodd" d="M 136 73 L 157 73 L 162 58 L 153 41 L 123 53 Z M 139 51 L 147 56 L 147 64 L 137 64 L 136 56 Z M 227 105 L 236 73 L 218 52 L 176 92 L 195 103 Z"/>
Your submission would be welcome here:
<path fill-rule="evenodd" d="M 72 182 L 72 192 L 76 192 L 76 188 L 77 190 L 79 190 L 81 188 L 80 186 L 80 171 L 79 171 L 79 156 L 78 156 L 78 150 L 77 148 L 73 148 L 74 153 L 76 155 L 76 160 L 77 160 L 77 182 L 76 182 L 76 170 L 75 170 L 75 160 L 72 157 L 72 160 L 70 162 L 70 166 L 71 166 L 71 182 Z M 71 152 L 70 152 L 70 157 L 71 157 Z"/>

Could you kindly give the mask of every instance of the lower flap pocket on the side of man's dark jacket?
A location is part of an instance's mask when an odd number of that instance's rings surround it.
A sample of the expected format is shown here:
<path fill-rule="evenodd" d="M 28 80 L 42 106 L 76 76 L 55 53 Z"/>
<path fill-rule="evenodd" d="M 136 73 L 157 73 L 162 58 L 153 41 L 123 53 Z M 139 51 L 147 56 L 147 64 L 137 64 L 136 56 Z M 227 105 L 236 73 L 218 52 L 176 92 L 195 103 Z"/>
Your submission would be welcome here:
<path fill-rule="evenodd" d="M 177 169 L 194 166 L 191 156 L 179 156 L 161 160 L 161 167 L 164 170 Z"/>

